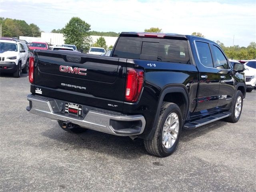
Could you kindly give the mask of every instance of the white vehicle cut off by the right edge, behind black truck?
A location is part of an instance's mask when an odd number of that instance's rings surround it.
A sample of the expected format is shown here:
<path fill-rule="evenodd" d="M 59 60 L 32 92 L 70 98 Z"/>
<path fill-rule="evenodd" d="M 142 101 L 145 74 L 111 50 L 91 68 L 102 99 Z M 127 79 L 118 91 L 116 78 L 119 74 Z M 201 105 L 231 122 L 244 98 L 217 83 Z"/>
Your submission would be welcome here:
<path fill-rule="evenodd" d="M 252 92 L 256 86 L 256 60 L 249 60 L 244 65 L 244 74 L 246 76 L 246 91 Z"/>

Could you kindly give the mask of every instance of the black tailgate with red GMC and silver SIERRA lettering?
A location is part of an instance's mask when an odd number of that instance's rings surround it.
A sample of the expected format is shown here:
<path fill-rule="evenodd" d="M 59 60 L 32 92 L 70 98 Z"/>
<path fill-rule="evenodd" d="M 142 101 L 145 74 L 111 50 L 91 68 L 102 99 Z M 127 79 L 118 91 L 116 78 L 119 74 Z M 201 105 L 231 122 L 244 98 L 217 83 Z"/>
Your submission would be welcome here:
<path fill-rule="evenodd" d="M 35 55 L 32 93 L 38 88 L 43 96 L 122 111 L 126 59 L 51 50 Z"/>

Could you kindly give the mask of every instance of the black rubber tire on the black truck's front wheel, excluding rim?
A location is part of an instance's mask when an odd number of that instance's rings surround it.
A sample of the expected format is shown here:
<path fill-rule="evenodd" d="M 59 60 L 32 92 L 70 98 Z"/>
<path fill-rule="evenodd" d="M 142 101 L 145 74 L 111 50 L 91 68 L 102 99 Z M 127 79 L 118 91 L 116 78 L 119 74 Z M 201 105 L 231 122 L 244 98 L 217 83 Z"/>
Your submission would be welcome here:
<path fill-rule="evenodd" d="M 236 103 L 237 103 L 239 97 L 241 98 L 241 104 L 240 104 L 240 107 L 241 107 L 241 108 L 240 108 L 239 115 L 236 116 Z M 231 106 L 231 108 L 230 108 L 231 115 L 230 115 L 229 117 L 225 118 L 225 120 L 226 120 L 227 122 L 230 122 L 230 123 L 236 123 L 236 122 L 238 122 L 238 120 L 239 120 L 239 118 L 240 118 L 240 116 L 241 116 L 241 114 L 242 114 L 243 100 L 244 100 L 244 99 L 243 99 L 243 94 L 242 94 L 242 92 L 241 92 L 240 90 L 237 90 L 237 91 L 236 91 L 235 98 L 234 98 L 234 101 L 233 101 L 232 106 Z"/>

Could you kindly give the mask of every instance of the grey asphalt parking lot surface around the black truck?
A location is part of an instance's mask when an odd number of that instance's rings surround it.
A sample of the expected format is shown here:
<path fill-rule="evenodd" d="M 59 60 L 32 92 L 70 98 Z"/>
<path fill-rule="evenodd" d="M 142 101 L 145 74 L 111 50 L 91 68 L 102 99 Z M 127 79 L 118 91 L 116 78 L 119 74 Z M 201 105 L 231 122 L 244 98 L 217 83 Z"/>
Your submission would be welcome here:
<path fill-rule="evenodd" d="M 88 130 L 70 134 L 26 111 L 30 84 L 0 77 L 0 191 L 256 191 L 256 90 L 240 121 L 183 130 L 166 158 L 143 141 Z"/>

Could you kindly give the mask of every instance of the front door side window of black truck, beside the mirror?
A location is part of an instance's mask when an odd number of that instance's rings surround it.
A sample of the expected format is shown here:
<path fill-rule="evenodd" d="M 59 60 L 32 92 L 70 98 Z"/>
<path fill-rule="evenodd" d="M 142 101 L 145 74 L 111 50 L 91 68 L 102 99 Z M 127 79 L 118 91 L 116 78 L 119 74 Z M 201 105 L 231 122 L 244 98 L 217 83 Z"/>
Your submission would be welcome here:
<path fill-rule="evenodd" d="M 228 60 L 222 53 L 222 51 L 215 45 L 212 45 L 212 51 L 214 54 L 214 61 L 217 69 L 229 69 Z"/>

